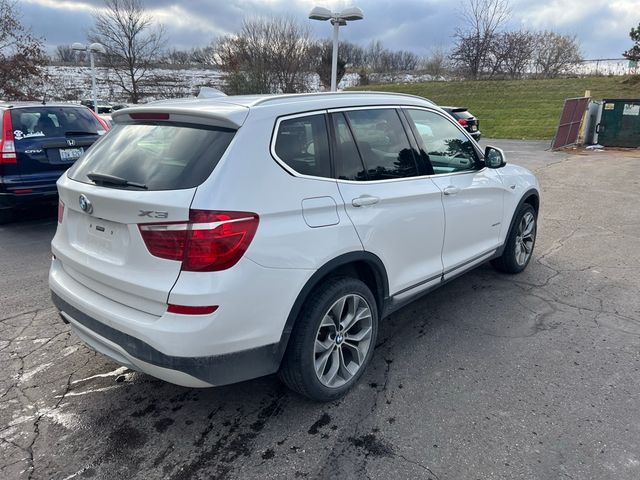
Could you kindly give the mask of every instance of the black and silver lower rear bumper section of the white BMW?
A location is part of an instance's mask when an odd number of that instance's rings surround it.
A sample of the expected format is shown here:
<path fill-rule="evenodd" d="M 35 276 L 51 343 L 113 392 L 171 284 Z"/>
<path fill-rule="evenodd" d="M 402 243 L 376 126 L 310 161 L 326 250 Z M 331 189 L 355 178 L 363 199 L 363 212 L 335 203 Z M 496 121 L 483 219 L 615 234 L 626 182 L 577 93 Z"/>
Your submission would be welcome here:
<path fill-rule="evenodd" d="M 185 387 L 236 383 L 277 371 L 278 344 L 206 357 L 166 355 L 142 340 L 81 312 L 55 292 L 51 294 L 65 322 L 89 346 L 126 367 Z"/>

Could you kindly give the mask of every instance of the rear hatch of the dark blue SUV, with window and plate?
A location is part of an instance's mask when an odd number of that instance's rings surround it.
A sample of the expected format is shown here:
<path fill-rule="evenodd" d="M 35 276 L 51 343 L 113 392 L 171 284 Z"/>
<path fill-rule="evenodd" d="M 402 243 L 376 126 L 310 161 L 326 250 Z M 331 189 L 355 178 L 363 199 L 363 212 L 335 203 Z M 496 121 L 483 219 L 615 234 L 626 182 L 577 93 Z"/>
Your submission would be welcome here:
<path fill-rule="evenodd" d="M 51 177 L 53 184 L 106 133 L 105 126 L 85 107 L 14 108 L 11 123 L 18 172 L 26 183 Z"/>

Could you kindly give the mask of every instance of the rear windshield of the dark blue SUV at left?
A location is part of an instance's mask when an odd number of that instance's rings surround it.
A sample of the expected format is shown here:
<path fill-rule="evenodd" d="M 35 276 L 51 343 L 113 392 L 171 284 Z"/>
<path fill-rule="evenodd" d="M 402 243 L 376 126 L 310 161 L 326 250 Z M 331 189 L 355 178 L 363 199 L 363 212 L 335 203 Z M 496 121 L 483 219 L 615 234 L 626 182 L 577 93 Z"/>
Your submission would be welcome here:
<path fill-rule="evenodd" d="M 67 135 L 103 135 L 104 127 L 88 108 L 26 107 L 11 110 L 13 136 L 24 139 L 65 137 Z"/>

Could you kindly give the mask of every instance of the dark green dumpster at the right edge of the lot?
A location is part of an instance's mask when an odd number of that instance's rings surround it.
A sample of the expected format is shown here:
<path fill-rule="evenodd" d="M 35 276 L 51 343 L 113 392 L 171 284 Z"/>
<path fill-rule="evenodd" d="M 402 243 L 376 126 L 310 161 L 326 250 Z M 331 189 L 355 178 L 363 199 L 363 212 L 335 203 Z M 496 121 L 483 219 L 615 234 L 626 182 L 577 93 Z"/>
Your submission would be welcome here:
<path fill-rule="evenodd" d="M 603 100 L 596 132 L 605 147 L 640 147 L 640 99 Z"/>

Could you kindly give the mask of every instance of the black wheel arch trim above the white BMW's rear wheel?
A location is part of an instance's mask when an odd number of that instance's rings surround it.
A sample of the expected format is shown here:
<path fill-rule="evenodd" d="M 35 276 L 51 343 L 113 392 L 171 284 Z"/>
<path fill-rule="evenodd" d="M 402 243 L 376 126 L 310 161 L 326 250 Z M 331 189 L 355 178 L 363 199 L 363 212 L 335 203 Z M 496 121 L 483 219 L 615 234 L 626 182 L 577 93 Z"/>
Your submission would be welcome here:
<path fill-rule="evenodd" d="M 313 290 L 322 283 L 326 278 L 333 276 L 352 276 L 363 281 L 376 299 L 376 306 L 378 308 L 378 315 L 382 315 L 385 307 L 385 303 L 389 297 L 389 281 L 387 277 L 387 271 L 380 258 L 371 253 L 365 251 L 350 252 L 340 255 L 320 267 L 311 276 L 311 278 L 304 285 L 300 293 L 296 297 L 284 329 L 278 342 L 276 351 L 276 360 L 278 363 L 282 361 L 287 346 L 289 344 L 289 338 L 291 332 L 295 326 L 295 323 L 300 315 L 300 311 L 304 306 L 307 298 L 313 292 Z"/>

